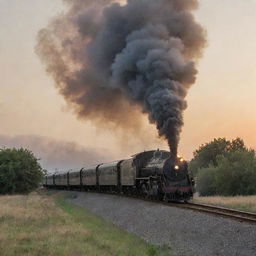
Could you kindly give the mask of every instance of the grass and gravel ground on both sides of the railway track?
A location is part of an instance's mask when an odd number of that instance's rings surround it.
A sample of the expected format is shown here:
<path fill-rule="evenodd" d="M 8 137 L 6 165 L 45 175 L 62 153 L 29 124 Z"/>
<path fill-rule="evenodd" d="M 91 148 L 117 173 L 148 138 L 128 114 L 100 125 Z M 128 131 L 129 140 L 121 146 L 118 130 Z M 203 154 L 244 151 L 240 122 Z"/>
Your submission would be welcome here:
<path fill-rule="evenodd" d="M 198 200 L 213 199 L 220 204 Z M 255 197 L 235 202 L 253 208 Z M 252 256 L 255 241 L 255 225 L 131 198 L 75 191 L 0 196 L 1 256 Z"/>

